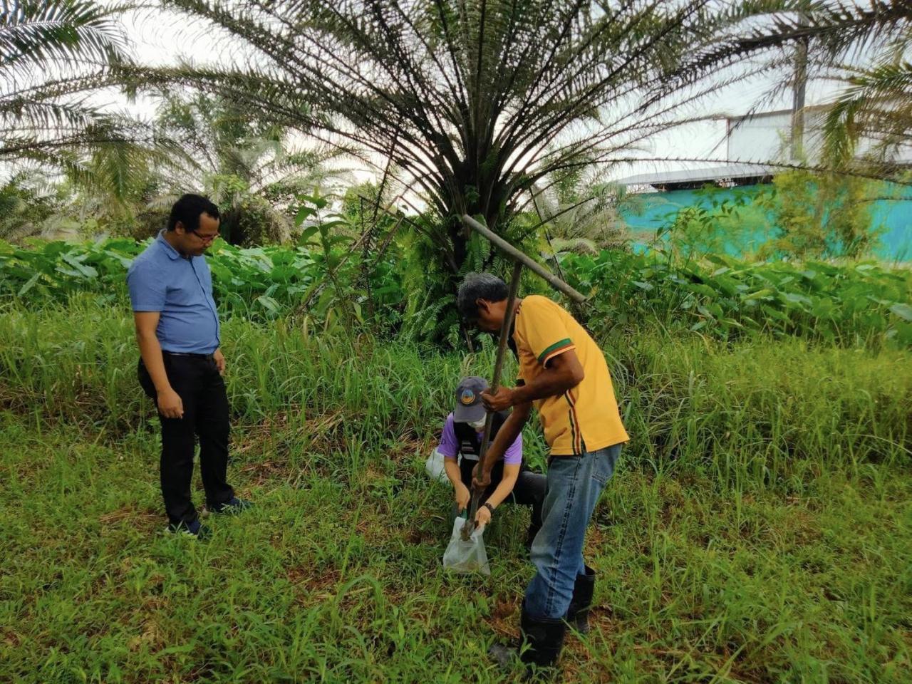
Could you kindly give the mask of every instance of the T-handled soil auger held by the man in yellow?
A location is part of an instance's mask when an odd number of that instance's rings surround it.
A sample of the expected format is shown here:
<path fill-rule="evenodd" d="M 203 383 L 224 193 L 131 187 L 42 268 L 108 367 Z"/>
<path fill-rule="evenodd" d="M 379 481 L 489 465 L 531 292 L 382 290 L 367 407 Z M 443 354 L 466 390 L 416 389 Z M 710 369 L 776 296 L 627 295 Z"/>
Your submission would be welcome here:
<path fill-rule="evenodd" d="M 497 358 L 494 362 L 494 377 L 491 382 L 491 391 L 496 393 L 498 387 L 501 383 L 501 370 L 503 369 L 503 356 L 507 347 L 507 340 L 510 336 L 511 322 L 513 313 L 513 304 L 516 300 L 516 292 L 519 289 L 519 279 L 523 271 L 523 265 L 528 267 L 535 275 L 539 275 L 544 280 L 554 287 L 554 289 L 564 293 L 575 302 L 582 304 L 586 301 L 586 297 L 578 293 L 573 287 L 567 285 L 563 280 L 558 278 L 556 275 L 549 273 L 544 266 L 535 262 L 532 258 L 523 254 L 518 249 L 513 247 L 512 244 L 508 243 L 499 235 L 492 233 L 487 227 L 483 226 L 481 223 L 475 221 L 471 216 L 467 214 L 462 215 L 462 223 L 464 223 L 470 230 L 475 231 L 476 233 L 481 234 L 483 237 L 493 244 L 495 247 L 500 249 L 504 254 L 507 254 L 511 259 L 513 259 L 513 275 L 510 279 L 510 294 L 507 297 L 507 316 L 503 317 L 503 325 L 501 326 L 501 337 L 497 345 Z M 484 462 L 485 454 L 488 451 L 488 445 L 491 442 L 491 426 L 493 421 L 493 414 L 488 412 L 486 419 L 484 420 L 484 432 L 482 434 L 482 446 L 479 456 L 479 463 Z M 479 492 L 472 489 L 472 504 L 469 509 L 469 517 L 466 519 L 465 523 L 462 525 L 461 537 L 463 542 L 470 541 L 472 530 L 474 529 L 475 524 L 475 513 L 478 512 L 478 506 L 482 497 L 483 492 Z"/>

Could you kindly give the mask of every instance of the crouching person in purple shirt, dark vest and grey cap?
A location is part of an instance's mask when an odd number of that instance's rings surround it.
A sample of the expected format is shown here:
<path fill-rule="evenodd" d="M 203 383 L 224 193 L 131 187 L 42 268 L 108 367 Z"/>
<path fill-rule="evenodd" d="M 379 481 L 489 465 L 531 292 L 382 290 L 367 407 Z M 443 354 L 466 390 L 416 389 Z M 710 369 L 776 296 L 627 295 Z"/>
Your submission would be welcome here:
<path fill-rule="evenodd" d="M 456 389 L 456 408 L 447 416 L 440 435 L 437 451 L 443 456 L 443 467 L 453 485 L 456 512 L 461 513 L 471 499 L 472 470 L 478 464 L 481 452 L 482 430 L 486 412 L 482 404 L 482 391 L 488 389 L 484 378 L 462 378 Z M 495 413 L 491 439 L 503 426 L 509 413 Z M 526 548 L 532 545 L 535 534 L 542 527 L 542 502 L 544 501 L 544 475 L 532 472 L 523 465 L 523 435 L 516 437 L 503 453 L 491 473 L 491 484 L 483 492 L 475 523 L 479 526 L 491 522 L 494 510 L 503 502 L 532 507 L 532 519 L 526 535 Z"/>

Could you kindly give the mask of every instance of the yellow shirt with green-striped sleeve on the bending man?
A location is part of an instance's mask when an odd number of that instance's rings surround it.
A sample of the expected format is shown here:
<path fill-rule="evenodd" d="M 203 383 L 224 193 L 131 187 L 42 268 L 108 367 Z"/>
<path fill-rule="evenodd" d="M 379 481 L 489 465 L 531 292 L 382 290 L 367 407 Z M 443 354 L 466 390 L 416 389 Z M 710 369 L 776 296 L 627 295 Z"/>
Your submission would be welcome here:
<path fill-rule="evenodd" d="M 534 400 L 553 456 L 597 451 L 630 439 L 621 423 L 602 350 L 561 306 L 540 295 L 524 297 L 516 311 L 513 343 L 519 377 L 526 383 L 542 373 L 548 361 L 569 349 L 575 350 L 583 366 L 585 377 L 574 389 Z"/>

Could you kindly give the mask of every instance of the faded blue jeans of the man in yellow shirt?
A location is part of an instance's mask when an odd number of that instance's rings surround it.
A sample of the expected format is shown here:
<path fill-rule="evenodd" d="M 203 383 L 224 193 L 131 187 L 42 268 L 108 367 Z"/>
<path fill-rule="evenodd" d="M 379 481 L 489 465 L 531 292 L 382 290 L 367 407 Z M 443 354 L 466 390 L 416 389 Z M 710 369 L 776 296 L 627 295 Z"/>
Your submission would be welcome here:
<path fill-rule="evenodd" d="M 525 590 L 530 617 L 564 617 L 576 575 L 586 573 L 583 541 L 598 497 L 615 472 L 621 445 L 586 451 L 581 456 L 554 456 L 548 464 L 542 529 L 530 552 L 537 572 Z"/>

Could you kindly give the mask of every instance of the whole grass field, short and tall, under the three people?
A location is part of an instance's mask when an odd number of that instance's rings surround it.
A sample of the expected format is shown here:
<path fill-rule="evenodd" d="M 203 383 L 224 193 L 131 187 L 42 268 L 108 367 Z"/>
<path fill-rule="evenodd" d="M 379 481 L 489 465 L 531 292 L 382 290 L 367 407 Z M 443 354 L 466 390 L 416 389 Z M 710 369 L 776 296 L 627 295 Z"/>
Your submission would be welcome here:
<path fill-rule="evenodd" d="M 256 508 L 210 516 L 199 544 L 161 534 L 126 306 L 0 310 L 0 680 L 505 680 L 484 653 L 517 633 L 524 513 L 485 534 L 490 578 L 445 575 L 450 492 L 423 472 L 451 386 L 491 350 L 285 320 L 223 337 L 230 474 Z M 912 679 L 908 353 L 602 342 L 633 439 L 565 681 Z"/>

